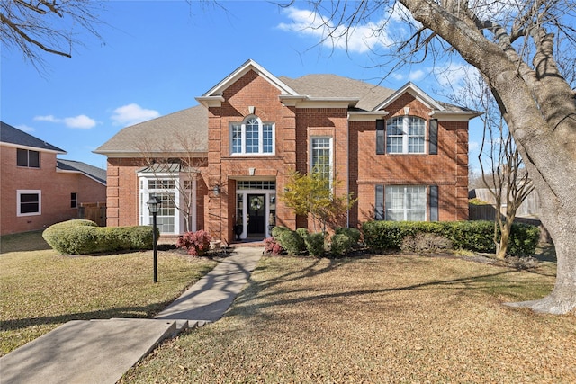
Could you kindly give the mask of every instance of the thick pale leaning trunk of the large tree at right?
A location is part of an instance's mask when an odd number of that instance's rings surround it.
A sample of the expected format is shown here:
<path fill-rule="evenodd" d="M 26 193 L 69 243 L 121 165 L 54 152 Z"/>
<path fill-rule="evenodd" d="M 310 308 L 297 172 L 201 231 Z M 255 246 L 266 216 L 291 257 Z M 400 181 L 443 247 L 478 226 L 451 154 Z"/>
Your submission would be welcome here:
<path fill-rule="evenodd" d="M 416 20 L 437 32 L 491 86 L 541 200 L 541 219 L 556 249 L 554 290 L 544 299 L 516 303 L 539 312 L 576 308 L 576 100 L 554 62 L 554 36 L 532 32 L 536 54 L 529 67 L 507 38 L 491 25 L 488 40 L 462 11 L 453 14 L 431 0 L 400 0 Z"/>

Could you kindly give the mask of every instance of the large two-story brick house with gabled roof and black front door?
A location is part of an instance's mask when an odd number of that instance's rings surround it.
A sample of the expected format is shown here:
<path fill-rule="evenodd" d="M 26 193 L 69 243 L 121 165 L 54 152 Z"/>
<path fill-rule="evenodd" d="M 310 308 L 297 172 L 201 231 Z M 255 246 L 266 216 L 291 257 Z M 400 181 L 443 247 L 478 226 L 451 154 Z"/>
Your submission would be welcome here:
<path fill-rule="evenodd" d="M 276 77 L 248 60 L 196 100 L 122 129 L 94 151 L 108 156 L 108 226 L 148 225 L 146 201 L 159 195 L 161 232 L 183 232 L 173 201 L 175 185 L 187 183 L 193 229 L 213 237 L 232 241 L 237 222 L 241 238 L 268 237 L 272 225 L 311 228 L 278 196 L 292 170 L 320 162 L 344 182 L 336 193 L 358 198 L 342 226 L 468 218 L 468 121 L 479 113 L 416 85 L 394 91 L 334 75 Z M 183 137 L 193 145 L 183 147 Z M 199 162 L 186 181 L 177 159 L 191 149 Z M 143 157 L 154 154 L 171 158 L 163 168 L 171 175 L 151 171 Z"/>

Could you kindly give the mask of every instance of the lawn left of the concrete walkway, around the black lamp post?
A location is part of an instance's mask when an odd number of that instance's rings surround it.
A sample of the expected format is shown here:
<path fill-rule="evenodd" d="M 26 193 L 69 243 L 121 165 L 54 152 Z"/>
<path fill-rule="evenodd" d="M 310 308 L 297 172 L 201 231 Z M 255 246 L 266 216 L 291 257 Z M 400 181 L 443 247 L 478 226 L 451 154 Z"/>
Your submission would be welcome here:
<path fill-rule="evenodd" d="M 2 355 L 69 320 L 153 317 L 215 264 L 158 252 L 155 284 L 152 251 L 63 256 L 37 232 L 0 242 Z"/>

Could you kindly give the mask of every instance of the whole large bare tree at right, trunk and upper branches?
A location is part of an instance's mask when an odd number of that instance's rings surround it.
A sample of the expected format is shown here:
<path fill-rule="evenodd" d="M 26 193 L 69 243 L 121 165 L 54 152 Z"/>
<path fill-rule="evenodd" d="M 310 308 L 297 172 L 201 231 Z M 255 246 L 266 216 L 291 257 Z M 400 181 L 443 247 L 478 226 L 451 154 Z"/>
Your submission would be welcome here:
<path fill-rule="evenodd" d="M 576 48 L 572 0 L 311 1 L 329 13 L 327 39 L 349 36 L 360 22 L 374 33 L 402 19 L 391 62 L 457 53 L 482 74 L 540 196 L 541 219 L 554 241 L 557 274 L 544 299 L 515 303 L 563 314 L 576 308 L 576 100 L 574 66 L 559 64 Z M 325 6 L 328 4 L 328 6 Z M 394 9 L 393 12 L 389 10 Z M 410 33 L 401 31 L 410 29 Z M 569 71 L 563 73 L 562 71 Z"/>

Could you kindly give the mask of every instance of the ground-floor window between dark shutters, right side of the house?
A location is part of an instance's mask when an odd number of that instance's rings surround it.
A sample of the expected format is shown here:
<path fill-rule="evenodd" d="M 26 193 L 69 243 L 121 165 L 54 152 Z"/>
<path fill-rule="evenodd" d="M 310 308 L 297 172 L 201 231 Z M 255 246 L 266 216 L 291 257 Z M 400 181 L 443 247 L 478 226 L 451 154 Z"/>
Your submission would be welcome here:
<path fill-rule="evenodd" d="M 391 221 L 425 221 L 426 187 L 420 185 L 386 186 L 386 219 Z"/>

